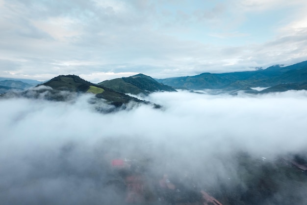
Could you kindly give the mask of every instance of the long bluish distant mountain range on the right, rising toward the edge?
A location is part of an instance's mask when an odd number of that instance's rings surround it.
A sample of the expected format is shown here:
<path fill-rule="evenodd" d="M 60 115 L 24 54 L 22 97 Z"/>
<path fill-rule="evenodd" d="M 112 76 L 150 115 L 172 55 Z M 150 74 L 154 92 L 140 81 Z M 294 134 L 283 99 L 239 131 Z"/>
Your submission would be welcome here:
<path fill-rule="evenodd" d="M 220 74 L 202 73 L 196 76 L 158 79 L 157 81 L 174 88 L 224 90 L 249 90 L 254 87 L 274 87 L 281 84 L 304 84 L 307 83 L 307 61 L 289 66 L 274 65 L 263 70 Z"/>

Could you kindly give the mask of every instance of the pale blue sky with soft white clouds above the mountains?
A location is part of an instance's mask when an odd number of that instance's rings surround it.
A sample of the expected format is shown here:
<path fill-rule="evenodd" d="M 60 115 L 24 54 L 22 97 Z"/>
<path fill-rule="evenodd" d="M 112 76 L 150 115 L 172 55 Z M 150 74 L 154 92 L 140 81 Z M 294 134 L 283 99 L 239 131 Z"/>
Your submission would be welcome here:
<path fill-rule="evenodd" d="M 98 83 L 307 60 L 306 0 L 0 0 L 0 77 Z"/>

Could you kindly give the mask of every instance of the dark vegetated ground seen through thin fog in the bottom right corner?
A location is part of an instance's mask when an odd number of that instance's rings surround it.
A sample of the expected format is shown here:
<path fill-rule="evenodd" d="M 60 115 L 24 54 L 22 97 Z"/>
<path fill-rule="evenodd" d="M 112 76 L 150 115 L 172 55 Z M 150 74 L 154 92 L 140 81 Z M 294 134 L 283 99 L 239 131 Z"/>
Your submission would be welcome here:
<path fill-rule="evenodd" d="M 255 159 L 247 153 L 237 155 L 238 178 L 221 181 L 208 191 L 225 205 L 304 204 L 307 173 L 291 160 Z"/>

